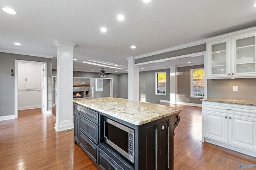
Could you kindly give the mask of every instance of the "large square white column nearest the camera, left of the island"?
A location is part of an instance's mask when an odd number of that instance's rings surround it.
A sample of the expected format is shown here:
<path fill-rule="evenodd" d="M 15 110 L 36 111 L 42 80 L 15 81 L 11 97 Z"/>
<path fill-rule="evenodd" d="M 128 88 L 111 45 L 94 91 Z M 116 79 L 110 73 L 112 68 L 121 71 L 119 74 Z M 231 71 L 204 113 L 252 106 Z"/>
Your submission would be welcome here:
<path fill-rule="evenodd" d="M 74 128 L 73 123 L 73 49 L 76 43 L 56 39 L 57 99 L 56 131 Z"/>

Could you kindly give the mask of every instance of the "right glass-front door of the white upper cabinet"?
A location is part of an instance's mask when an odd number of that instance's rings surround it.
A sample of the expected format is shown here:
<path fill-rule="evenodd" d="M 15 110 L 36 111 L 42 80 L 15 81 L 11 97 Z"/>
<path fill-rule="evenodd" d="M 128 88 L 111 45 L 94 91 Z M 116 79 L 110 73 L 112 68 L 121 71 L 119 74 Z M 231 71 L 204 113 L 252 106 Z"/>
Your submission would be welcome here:
<path fill-rule="evenodd" d="M 255 36 L 235 38 L 234 74 L 256 74 Z M 253 75 L 252 75 L 253 76 Z"/>

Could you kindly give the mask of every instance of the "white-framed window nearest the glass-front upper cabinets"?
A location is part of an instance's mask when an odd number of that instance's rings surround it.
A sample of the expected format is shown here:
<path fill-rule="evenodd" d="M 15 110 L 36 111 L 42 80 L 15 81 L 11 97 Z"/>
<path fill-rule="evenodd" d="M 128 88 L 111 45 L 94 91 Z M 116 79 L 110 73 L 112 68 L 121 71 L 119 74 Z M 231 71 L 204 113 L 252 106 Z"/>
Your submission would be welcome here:
<path fill-rule="evenodd" d="M 204 68 L 191 69 L 191 96 L 192 98 L 204 97 Z"/>

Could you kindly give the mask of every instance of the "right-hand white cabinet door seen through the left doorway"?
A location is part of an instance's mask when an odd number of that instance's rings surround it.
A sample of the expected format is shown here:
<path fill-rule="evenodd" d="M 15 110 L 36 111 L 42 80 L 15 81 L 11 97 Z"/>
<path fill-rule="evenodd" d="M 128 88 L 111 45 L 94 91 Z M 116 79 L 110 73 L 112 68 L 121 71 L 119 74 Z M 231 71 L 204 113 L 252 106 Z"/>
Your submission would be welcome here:
<path fill-rule="evenodd" d="M 40 65 L 26 64 L 26 88 L 40 88 Z"/>

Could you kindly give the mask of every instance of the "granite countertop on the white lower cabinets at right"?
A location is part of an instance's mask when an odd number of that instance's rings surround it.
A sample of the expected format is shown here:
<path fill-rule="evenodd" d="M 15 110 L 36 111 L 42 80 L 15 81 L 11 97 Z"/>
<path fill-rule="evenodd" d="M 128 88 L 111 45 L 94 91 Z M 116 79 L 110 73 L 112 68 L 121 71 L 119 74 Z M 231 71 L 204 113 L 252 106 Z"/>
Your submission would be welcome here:
<path fill-rule="evenodd" d="M 256 101 L 254 100 L 233 100 L 233 99 L 221 99 L 221 98 L 206 98 L 200 99 L 205 102 L 218 102 L 218 103 L 227 103 L 227 104 L 241 104 L 247 106 L 256 106 Z"/>

